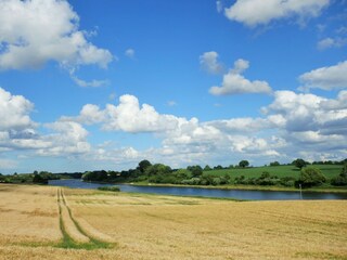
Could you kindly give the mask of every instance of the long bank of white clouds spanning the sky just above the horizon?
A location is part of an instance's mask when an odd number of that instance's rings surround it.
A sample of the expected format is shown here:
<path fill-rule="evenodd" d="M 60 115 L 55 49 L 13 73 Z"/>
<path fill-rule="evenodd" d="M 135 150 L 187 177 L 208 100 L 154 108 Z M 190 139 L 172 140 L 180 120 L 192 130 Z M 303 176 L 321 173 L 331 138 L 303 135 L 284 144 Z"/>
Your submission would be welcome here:
<path fill-rule="evenodd" d="M 246 69 L 246 65 L 240 62 L 234 72 Z M 7 99 L 0 104 L 17 98 L 3 90 L 2 95 Z M 233 164 L 245 158 L 257 162 L 290 161 L 301 154 L 310 155 L 305 157 L 310 159 L 340 159 L 347 155 L 346 99 L 346 91 L 340 91 L 336 99 L 277 91 L 273 102 L 262 108 L 261 117 L 201 122 L 196 118 L 160 114 L 151 105 L 141 105 L 133 95 L 123 95 L 117 105 L 108 104 L 103 109 L 87 104 L 76 117 L 62 117 L 42 125 L 40 130 L 44 131 L 41 132 L 30 119 L 8 127 L 0 122 L 0 152 L 21 151 L 22 154 L 26 151 L 29 156 L 78 158 L 92 164 L 106 161 L 128 168 L 143 158 L 172 167 Z M 23 96 L 17 104 L 30 104 L 24 109 L 24 115 L 29 116 L 34 105 Z M 23 109 L 9 107 L 23 115 Z M 17 115 L 12 117 L 23 120 Z M 91 146 L 83 125 L 99 125 L 104 131 L 152 132 L 162 143 L 143 151 L 113 143 Z"/>

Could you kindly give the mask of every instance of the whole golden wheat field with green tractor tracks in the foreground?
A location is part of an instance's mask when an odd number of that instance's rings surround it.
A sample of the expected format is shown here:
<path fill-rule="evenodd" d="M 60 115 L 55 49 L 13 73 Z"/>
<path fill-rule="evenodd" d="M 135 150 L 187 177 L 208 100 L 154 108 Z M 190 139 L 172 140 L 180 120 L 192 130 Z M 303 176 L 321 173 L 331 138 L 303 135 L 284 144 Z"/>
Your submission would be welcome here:
<path fill-rule="evenodd" d="M 347 203 L 0 185 L 0 259 L 347 259 Z"/>

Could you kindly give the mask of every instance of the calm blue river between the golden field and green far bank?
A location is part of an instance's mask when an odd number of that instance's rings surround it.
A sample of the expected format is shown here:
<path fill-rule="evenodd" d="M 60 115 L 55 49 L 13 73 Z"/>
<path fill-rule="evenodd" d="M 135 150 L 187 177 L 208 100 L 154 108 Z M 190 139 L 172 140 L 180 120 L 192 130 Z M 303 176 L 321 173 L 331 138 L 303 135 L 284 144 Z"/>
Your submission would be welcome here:
<path fill-rule="evenodd" d="M 49 182 L 50 185 L 68 186 L 76 188 L 98 188 L 99 186 L 110 186 L 112 184 L 99 184 L 82 182 L 81 180 L 54 180 Z M 245 190 L 221 190 L 221 188 L 201 188 L 201 187 L 174 187 L 174 186 L 133 186 L 119 184 L 121 192 L 133 193 L 155 193 L 165 195 L 179 196 L 203 196 L 236 198 L 252 200 L 284 200 L 301 199 L 299 192 L 272 192 L 272 191 L 245 191 Z M 304 192 L 303 199 L 347 199 L 347 194 L 342 193 L 316 193 Z"/>

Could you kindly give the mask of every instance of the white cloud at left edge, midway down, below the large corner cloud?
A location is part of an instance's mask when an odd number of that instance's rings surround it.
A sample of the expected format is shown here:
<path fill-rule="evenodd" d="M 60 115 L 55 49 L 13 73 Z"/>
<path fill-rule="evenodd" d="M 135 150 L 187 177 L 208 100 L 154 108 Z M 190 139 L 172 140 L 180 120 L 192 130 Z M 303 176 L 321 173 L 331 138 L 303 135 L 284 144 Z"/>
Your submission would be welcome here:
<path fill-rule="evenodd" d="M 57 121 L 42 127 L 51 133 L 37 131 L 39 123 L 30 119 L 34 104 L 22 95 L 0 88 L 0 152 L 34 151 L 40 155 L 72 155 L 87 153 L 87 130 L 78 122 Z M 83 110 L 88 114 L 88 109 Z"/>

